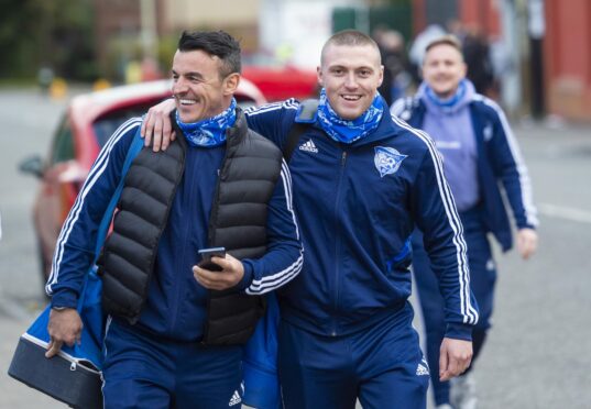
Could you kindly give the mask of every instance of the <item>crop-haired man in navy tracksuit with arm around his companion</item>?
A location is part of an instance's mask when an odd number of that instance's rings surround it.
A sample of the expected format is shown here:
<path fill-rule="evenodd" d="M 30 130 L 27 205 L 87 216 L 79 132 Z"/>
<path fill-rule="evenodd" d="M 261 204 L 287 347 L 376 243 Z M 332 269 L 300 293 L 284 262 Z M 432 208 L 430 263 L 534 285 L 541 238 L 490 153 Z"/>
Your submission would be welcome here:
<path fill-rule="evenodd" d="M 429 368 L 407 301 L 415 226 L 425 232 L 446 299 L 440 375 L 470 363 L 478 309 L 460 220 L 433 141 L 391 118 L 376 92 L 382 71 L 365 34 L 329 38 L 318 109 L 289 161 L 306 258 L 277 291 L 286 408 L 354 408 L 358 398 L 365 408 L 426 407 Z M 147 137 L 169 104 L 150 111 Z M 284 150 L 302 108 L 287 100 L 251 109 L 249 126 Z"/>

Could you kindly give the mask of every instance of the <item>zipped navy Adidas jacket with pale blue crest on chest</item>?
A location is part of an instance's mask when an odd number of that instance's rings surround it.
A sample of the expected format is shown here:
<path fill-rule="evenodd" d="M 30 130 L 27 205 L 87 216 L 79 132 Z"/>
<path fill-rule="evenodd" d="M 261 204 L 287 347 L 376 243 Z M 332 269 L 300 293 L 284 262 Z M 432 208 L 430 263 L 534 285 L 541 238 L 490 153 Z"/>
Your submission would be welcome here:
<path fill-rule="evenodd" d="M 298 108 L 287 100 L 245 113 L 251 129 L 283 148 Z M 376 131 L 346 145 L 313 121 L 289 168 L 306 258 L 278 290 L 285 320 L 342 335 L 391 314 L 411 295 L 409 237 L 418 226 L 440 277 L 447 336 L 471 338 L 478 309 L 462 226 L 425 133 L 384 114 Z"/>

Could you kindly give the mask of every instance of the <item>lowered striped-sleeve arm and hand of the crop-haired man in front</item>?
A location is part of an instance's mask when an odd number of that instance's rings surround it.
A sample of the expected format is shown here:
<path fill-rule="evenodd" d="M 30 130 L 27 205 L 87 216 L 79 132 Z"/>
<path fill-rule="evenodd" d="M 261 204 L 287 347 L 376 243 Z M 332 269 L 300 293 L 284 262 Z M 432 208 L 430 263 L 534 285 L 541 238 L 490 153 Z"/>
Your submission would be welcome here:
<path fill-rule="evenodd" d="M 439 279 L 446 302 L 447 329 L 440 347 L 441 380 L 460 375 L 472 357 L 471 332 L 478 321 L 475 298 L 470 291 L 466 243 L 456 204 L 444 177 L 435 144 L 419 132 L 429 147 L 415 187 L 415 219 L 425 237 L 425 248 Z"/>

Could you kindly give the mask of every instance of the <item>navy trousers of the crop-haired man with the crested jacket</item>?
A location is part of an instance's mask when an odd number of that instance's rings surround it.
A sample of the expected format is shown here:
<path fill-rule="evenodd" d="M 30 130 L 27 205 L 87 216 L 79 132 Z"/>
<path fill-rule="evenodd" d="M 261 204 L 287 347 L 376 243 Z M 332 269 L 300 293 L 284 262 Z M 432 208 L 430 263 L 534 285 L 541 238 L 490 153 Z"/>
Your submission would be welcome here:
<path fill-rule="evenodd" d="M 408 302 L 377 324 L 324 336 L 282 320 L 280 382 L 286 409 L 422 409 L 428 367 Z"/>

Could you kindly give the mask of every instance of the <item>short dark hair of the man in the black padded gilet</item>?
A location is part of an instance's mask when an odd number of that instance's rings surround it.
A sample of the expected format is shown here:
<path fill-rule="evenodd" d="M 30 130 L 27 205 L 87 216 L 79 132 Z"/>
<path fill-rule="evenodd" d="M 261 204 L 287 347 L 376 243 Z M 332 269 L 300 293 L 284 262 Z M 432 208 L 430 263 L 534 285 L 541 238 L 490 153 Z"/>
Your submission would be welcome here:
<path fill-rule="evenodd" d="M 240 44 L 225 31 L 184 31 L 178 40 L 178 51 L 203 51 L 221 60 L 220 77 L 242 70 Z"/>

